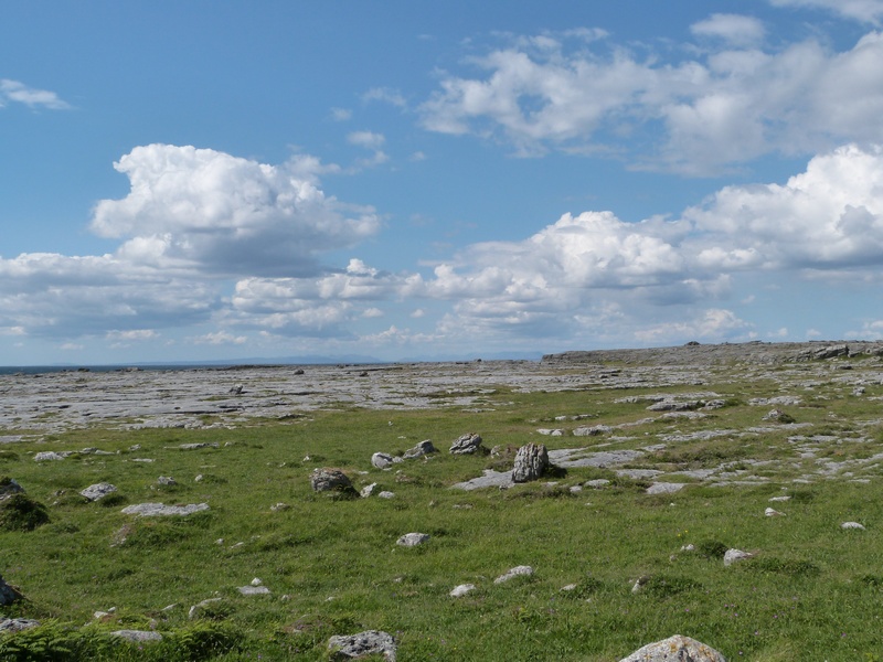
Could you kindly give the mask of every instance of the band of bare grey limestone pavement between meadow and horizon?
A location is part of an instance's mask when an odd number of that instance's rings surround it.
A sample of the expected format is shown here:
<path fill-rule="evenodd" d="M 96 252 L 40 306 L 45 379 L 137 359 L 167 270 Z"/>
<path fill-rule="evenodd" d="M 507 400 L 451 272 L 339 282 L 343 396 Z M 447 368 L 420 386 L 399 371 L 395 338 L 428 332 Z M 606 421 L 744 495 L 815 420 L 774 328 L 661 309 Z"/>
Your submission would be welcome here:
<path fill-rule="evenodd" d="M 760 378 L 783 365 L 800 366 L 804 383 L 850 356 L 873 360 L 883 342 L 744 343 L 643 350 L 566 352 L 530 361 L 472 361 L 373 365 L 237 366 L 201 370 L 54 372 L 0 376 L 2 441 L 108 425 L 205 427 L 296 412 L 368 408 L 481 407 L 500 385 L 520 392 L 701 386 L 717 372 L 741 366 Z M 865 366 L 868 367 L 868 366 Z M 883 378 L 883 366 L 842 373 L 843 388 Z"/>

